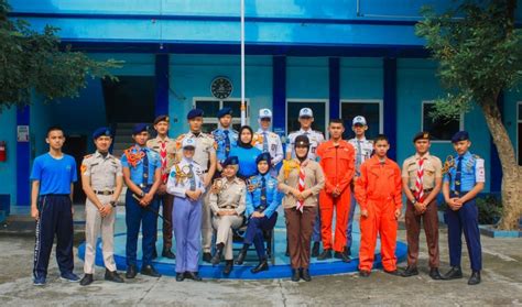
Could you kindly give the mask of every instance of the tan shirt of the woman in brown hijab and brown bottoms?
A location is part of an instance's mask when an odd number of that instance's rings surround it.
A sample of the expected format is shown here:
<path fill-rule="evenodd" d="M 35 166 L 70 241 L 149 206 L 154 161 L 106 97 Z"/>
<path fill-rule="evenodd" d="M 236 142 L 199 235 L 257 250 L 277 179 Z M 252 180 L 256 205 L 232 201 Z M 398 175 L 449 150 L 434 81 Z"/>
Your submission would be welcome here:
<path fill-rule="evenodd" d="M 286 167 L 285 164 L 289 162 L 284 162 L 283 167 L 279 172 L 278 182 L 280 184 L 281 191 L 284 193 L 283 198 L 283 208 L 293 208 L 297 206 L 297 198 L 295 198 L 290 190 L 292 188 L 298 189 L 298 180 L 300 180 L 300 167 L 298 167 L 298 160 L 294 158 L 290 163 L 292 166 L 290 167 L 290 172 L 287 173 L 287 177 L 285 178 Z M 312 190 L 312 196 L 305 199 L 304 206 L 317 206 L 317 195 L 325 186 L 325 175 L 323 173 L 323 168 L 320 165 L 313 161 L 307 160 L 306 165 L 304 166 L 305 171 L 305 189 Z"/>

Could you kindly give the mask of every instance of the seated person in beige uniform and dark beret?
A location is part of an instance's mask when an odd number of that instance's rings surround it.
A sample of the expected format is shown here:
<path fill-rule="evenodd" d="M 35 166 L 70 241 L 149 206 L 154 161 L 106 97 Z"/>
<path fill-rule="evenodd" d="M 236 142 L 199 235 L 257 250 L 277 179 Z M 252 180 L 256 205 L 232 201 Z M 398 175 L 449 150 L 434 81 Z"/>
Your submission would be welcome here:
<path fill-rule="evenodd" d="M 238 172 L 238 157 L 229 156 L 222 163 L 222 177 L 214 180 L 209 204 L 213 210 L 213 226 L 217 230 L 216 254 L 211 259 L 214 265 L 221 261 L 225 250 L 225 275 L 230 274 L 233 267 L 232 229 L 238 229 L 243 223 L 244 198 L 247 186 L 236 177 Z"/>

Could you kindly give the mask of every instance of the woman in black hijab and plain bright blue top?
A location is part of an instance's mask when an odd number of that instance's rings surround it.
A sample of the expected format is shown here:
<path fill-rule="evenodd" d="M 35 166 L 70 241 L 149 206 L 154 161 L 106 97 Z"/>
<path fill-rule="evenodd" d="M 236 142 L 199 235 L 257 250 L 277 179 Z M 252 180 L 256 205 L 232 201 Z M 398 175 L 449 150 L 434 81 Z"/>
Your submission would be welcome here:
<path fill-rule="evenodd" d="M 238 144 L 230 151 L 229 156 L 237 156 L 239 158 L 238 177 L 246 180 L 255 175 L 258 167 L 255 158 L 262 152 L 252 146 L 253 131 L 249 125 L 243 125 L 239 129 Z"/>

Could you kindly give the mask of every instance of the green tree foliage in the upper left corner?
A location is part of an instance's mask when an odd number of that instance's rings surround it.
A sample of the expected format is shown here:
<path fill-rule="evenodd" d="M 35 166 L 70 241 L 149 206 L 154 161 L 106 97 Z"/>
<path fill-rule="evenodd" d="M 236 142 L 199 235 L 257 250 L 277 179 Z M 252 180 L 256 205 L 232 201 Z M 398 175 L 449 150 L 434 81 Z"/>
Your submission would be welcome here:
<path fill-rule="evenodd" d="M 0 112 L 31 102 L 35 90 L 44 101 L 77 97 L 88 77 L 116 79 L 110 68 L 122 62 L 97 62 L 70 46 L 61 47 L 58 29 L 46 25 L 42 33 L 23 20 L 8 19 L 10 7 L 0 0 Z"/>

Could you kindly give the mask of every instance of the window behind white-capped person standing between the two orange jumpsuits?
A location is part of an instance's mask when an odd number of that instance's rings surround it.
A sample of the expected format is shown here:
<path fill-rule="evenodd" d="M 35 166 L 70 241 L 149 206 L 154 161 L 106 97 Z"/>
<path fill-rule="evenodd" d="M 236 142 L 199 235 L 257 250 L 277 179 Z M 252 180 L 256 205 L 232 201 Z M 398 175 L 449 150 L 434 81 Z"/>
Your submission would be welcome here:
<path fill-rule="evenodd" d="M 368 123 L 366 138 L 372 140 L 382 133 L 382 101 L 381 100 L 344 100 L 340 103 L 340 116 L 345 122 L 344 139 L 352 139 L 351 123 L 355 117 L 362 116 Z"/>

